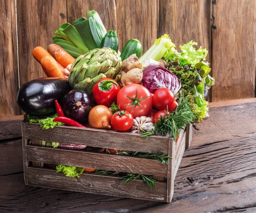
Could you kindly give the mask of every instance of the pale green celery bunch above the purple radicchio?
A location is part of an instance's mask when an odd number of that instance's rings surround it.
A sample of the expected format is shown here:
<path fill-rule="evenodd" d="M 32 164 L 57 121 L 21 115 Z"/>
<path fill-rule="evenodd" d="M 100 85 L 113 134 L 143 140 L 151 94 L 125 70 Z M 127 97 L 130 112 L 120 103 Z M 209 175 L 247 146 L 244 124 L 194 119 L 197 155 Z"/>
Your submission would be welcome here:
<path fill-rule="evenodd" d="M 140 61 L 144 62 L 147 58 L 160 60 L 166 56 L 171 58 L 175 54 L 175 47 L 176 46 L 174 43 L 172 43 L 169 35 L 162 35 L 160 38 L 155 40 L 154 44 L 140 58 Z"/>

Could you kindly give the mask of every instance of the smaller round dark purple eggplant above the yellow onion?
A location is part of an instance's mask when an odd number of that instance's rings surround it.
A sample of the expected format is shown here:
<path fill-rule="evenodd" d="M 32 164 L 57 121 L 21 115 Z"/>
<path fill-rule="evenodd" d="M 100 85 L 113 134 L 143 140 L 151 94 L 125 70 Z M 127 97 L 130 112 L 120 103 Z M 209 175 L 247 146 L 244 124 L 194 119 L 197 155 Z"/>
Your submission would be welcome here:
<path fill-rule="evenodd" d="M 80 89 L 68 92 L 62 100 L 65 116 L 78 122 L 88 120 L 90 110 L 93 108 L 93 99 Z"/>

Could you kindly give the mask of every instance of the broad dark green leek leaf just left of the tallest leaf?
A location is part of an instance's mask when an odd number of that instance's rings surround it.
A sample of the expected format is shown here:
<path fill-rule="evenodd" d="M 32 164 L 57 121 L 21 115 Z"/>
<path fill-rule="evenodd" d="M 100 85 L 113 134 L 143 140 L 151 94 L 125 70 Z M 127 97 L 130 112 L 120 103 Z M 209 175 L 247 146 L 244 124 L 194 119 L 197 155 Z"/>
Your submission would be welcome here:
<path fill-rule="evenodd" d="M 89 48 L 89 50 L 96 49 L 97 46 L 93 39 L 92 32 L 90 30 L 89 20 L 84 17 L 81 17 L 78 20 L 75 20 L 73 23 L 74 23 L 74 26 L 76 27 L 77 31 L 83 38 L 84 43 Z"/>

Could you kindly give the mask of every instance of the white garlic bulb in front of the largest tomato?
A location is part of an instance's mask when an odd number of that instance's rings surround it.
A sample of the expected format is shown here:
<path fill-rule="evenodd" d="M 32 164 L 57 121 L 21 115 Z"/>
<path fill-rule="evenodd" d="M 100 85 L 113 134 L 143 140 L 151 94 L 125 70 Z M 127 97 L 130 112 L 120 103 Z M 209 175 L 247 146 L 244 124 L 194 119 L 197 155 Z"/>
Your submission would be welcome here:
<path fill-rule="evenodd" d="M 140 116 L 134 119 L 134 124 L 131 127 L 131 132 L 151 132 L 154 130 L 153 120 L 147 116 Z"/>

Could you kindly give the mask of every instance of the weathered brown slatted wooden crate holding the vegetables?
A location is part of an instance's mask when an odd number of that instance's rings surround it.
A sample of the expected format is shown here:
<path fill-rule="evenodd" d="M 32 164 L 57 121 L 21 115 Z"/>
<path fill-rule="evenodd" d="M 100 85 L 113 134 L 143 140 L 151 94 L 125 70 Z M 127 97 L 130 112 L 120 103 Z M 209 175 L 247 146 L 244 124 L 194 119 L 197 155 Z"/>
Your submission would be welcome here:
<path fill-rule="evenodd" d="M 174 179 L 185 147 L 192 137 L 191 125 L 181 130 L 179 139 L 151 136 L 147 141 L 140 134 L 76 127 L 54 127 L 44 130 L 38 124 L 22 123 L 25 184 L 36 187 L 121 196 L 134 199 L 171 202 Z M 164 153 L 172 157 L 169 164 L 136 156 L 124 156 L 85 150 L 65 150 L 40 146 L 41 141 L 55 141 L 105 147 L 143 153 Z M 69 178 L 44 164 L 90 167 L 117 172 L 153 175 L 158 180 L 150 190 L 142 180 L 122 182 L 123 178 L 94 173 Z"/>

